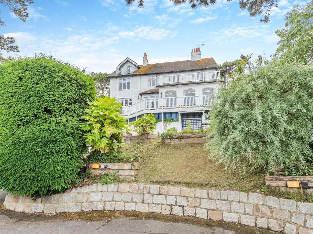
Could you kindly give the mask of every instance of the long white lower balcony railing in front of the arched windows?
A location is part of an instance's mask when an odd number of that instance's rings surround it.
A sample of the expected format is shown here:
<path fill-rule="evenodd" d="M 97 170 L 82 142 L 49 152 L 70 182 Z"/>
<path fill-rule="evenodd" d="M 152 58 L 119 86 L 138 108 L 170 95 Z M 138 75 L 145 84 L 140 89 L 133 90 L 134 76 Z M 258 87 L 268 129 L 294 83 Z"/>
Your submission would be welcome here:
<path fill-rule="evenodd" d="M 144 99 L 129 106 L 128 114 L 132 115 L 142 110 L 189 108 L 212 105 L 213 103 L 213 95 Z"/>

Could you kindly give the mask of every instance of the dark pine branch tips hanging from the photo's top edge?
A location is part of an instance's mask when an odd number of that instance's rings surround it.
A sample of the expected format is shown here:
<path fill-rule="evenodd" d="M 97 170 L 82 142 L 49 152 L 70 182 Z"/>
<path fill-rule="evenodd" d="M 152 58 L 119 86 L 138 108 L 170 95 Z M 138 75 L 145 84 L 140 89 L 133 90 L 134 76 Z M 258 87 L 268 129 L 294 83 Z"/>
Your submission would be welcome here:
<path fill-rule="evenodd" d="M 182 5 L 187 2 L 187 0 L 170 0 L 174 5 Z M 132 5 L 136 0 L 126 0 L 127 5 Z M 216 0 L 188 0 L 192 9 L 198 6 L 209 7 L 214 5 Z M 232 2 L 232 0 L 227 0 L 227 2 Z M 137 5 L 139 8 L 144 7 L 144 0 L 137 0 Z M 277 0 L 239 0 L 239 7 L 242 10 L 247 10 L 251 17 L 262 15 L 260 22 L 269 22 L 269 13 L 272 7 L 278 7 Z"/>

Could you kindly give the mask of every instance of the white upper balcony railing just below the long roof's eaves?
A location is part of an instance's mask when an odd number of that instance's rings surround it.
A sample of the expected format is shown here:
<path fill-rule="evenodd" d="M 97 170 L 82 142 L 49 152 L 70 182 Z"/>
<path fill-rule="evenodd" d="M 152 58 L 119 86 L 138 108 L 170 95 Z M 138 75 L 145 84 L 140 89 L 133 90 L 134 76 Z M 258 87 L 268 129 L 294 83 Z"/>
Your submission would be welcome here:
<path fill-rule="evenodd" d="M 219 71 L 213 72 L 197 72 L 183 75 L 159 76 L 158 85 L 174 84 L 174 83 L 189 83 L 201 82 L 205 80 L 220 80 Z"/>

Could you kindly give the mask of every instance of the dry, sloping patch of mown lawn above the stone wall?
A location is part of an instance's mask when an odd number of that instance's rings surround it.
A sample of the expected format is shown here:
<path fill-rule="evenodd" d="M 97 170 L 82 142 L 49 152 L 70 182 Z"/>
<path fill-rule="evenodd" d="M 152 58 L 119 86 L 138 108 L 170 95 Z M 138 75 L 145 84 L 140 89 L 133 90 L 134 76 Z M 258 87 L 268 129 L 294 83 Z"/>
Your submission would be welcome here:
<path fill-rule="evenodd" d="M 136 175 L 138 183 L 181 184 L 203 188 L 233 188 L 242 191 L 257 190 L 264 184 L 262 174 L 234 174 L 223 165 L 208 159 L 203 144 L 163 145 L 161 140 L 150 143 L 129 143 L 123 147 L 126 154 L 142 158 Z"/>

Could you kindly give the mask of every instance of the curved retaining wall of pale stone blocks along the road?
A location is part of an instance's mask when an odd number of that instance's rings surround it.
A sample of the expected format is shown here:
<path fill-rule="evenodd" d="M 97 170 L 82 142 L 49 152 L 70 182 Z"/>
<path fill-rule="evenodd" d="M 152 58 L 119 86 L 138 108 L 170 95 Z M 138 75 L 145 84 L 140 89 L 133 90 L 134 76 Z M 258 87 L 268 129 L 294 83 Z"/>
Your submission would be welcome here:
<path fill-rule="evenodd" d="M 259 193 L 204 190 L 142 184 L 93 184 L 33 201 L 6 196 L 17 212 L 126 210 L 190 216 L 268 228 L 286 234 L 313 234 L 313 203 Z"/>

